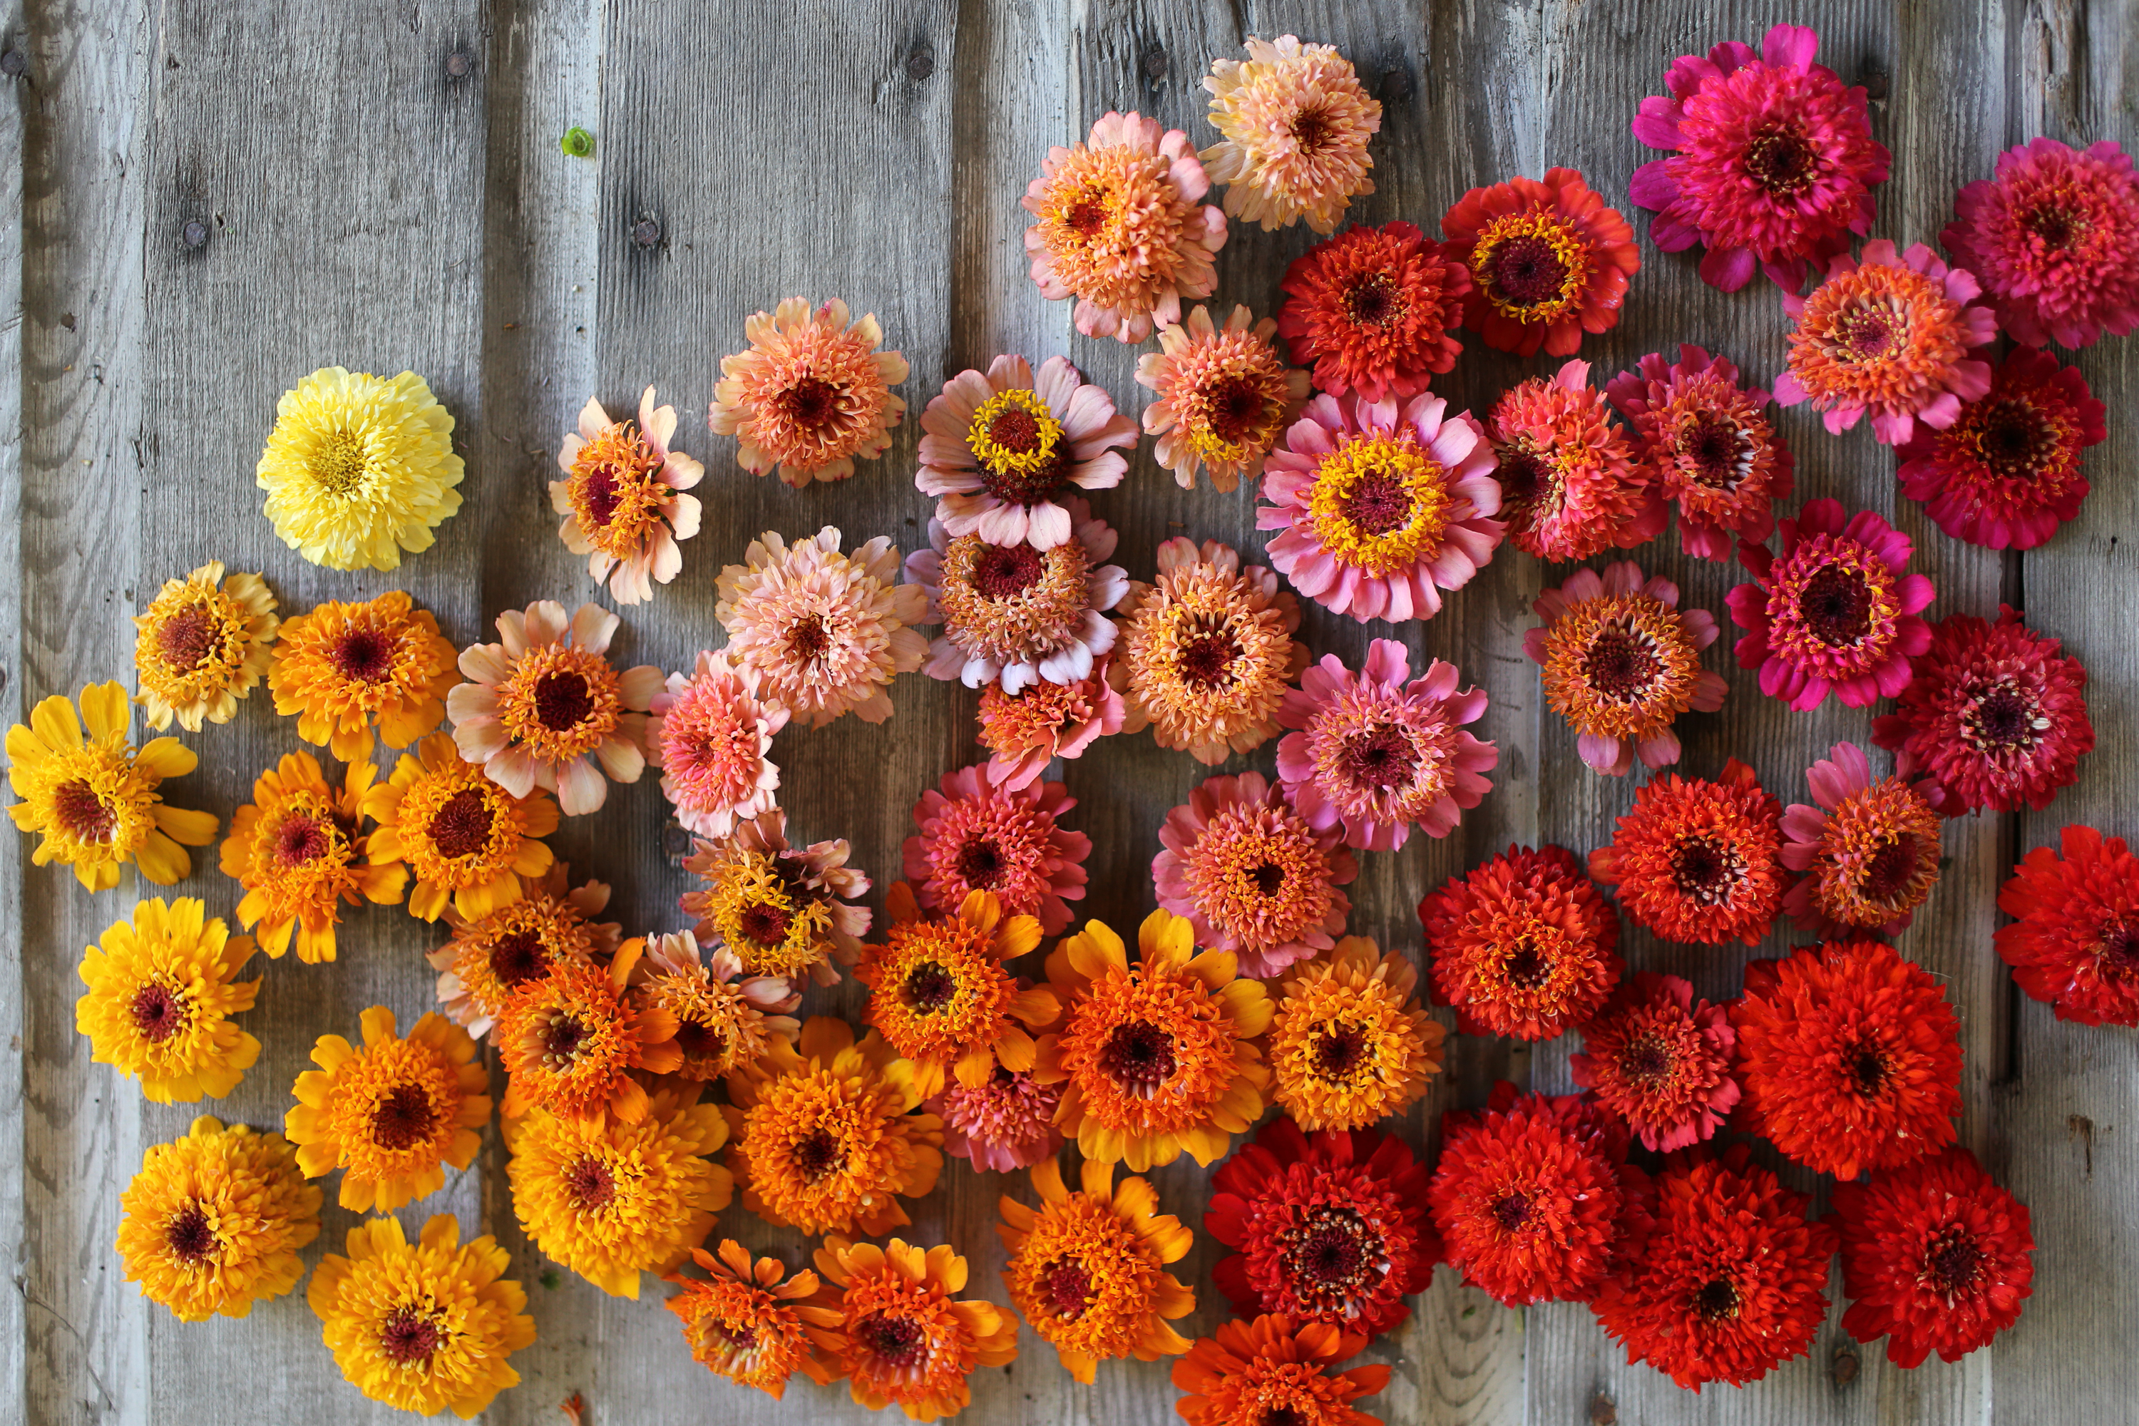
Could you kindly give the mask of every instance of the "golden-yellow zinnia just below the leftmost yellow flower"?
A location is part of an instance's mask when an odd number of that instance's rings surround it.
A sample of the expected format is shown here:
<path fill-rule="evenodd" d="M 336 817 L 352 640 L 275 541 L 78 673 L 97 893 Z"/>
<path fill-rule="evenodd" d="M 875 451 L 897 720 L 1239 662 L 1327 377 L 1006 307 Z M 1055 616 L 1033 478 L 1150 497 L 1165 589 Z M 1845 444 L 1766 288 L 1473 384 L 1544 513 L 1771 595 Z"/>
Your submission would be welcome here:
<path fill-rule="evenodd" d="M 261 1056 L 261 1041 L 231 1024 L 261 990 L 235 979 L 250 956 L 252 936 L 229 934 L 190 896 L 135 902 L 133 921 L 81 951 L 75 1028 L 90 1058 L 139 1080 L 154 1103 L 222 1099 Z"/>

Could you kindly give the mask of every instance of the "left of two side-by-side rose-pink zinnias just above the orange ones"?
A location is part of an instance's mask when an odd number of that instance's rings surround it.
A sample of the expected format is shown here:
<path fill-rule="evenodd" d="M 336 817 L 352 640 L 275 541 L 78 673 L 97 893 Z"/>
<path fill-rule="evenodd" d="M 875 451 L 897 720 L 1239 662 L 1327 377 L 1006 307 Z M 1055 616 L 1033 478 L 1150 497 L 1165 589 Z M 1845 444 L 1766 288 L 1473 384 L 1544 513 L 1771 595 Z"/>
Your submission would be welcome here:
<path fill-rule="evenodd" d="M 956 911 L 969 892 L 995 892 L 1003 915 L 1040 917 L 1040 930 L 1070 926 L 1070 904 L 1084 900 L 1091 838 L 1061 825 L 1076 797 L 1061 782 L 1020 789 L 958 768 L 913 804 L 903 849 L 913 896 L 930 911 Z"/>

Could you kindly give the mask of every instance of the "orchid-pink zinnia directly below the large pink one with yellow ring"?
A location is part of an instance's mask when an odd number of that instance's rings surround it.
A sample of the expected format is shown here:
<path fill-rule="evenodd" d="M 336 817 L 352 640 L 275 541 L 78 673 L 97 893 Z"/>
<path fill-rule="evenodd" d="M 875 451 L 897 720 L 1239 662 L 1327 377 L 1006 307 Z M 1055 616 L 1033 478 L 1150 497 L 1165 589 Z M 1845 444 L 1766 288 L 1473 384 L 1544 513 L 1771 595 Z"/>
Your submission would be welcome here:
<path fill-rule="evenodd" d="M 1369 644 L 1358 673 L 1337 654 L 1307 665 L 1277 710 L 1294 729 L 1277 744 L 1277 776 L 1301 817 L 1315 832 L 1341 823 L 1345 844 L 1367 851 L 1403 847 L 1412 825 L 1448 836 L 1499 763 L 1499 748 L 1463 729 L 1484 714 L 1484 688 L 1457 693 L 1457 682 L 1440 658 L 1412 680 L 1392 639 Z"/>

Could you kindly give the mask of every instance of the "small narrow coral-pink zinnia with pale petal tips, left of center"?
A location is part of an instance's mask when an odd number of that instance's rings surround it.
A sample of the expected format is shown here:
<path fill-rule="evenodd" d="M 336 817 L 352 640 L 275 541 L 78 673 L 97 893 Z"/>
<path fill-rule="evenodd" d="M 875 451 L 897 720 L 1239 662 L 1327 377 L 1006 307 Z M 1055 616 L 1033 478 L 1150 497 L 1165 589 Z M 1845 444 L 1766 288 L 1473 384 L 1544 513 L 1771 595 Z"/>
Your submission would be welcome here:
<path fill-rule="evenodd" d="M 727 836 L 736 819 L 770 812 L 781 770 L 766 753 L 787 727 L 787 710 L 757 697 L 757 676 L 727 654 L 699 652 L 697 669 L 667 676 L 646 731 L 661 795 L 697 836 Z"/>

